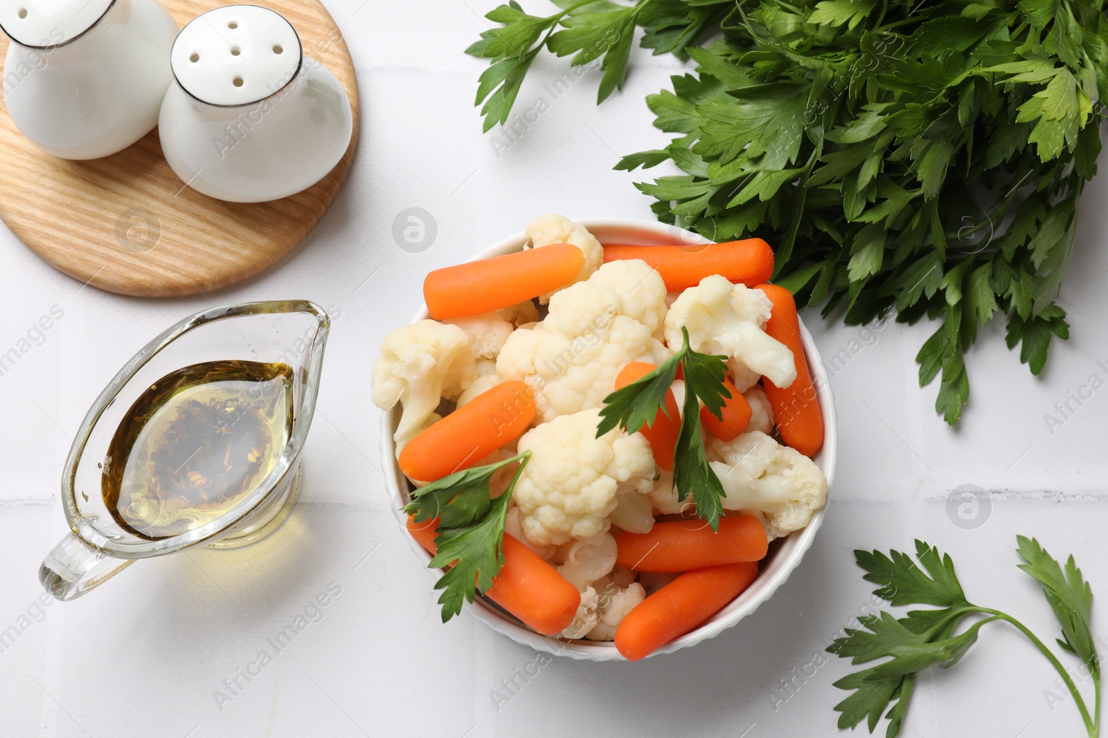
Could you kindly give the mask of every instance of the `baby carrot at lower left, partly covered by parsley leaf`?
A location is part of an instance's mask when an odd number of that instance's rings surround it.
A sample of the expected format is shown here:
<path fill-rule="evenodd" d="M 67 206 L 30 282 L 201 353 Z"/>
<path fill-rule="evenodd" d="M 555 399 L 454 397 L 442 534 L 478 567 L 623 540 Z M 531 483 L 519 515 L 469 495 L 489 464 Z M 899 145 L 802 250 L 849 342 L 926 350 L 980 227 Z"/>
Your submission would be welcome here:
<path fill-rule="evenodd" d="M 438 520 L 416 522 L 414 516 L 408 517 L 408 532 L 432 555 L 438 524 Z M 504 565 L 485 594 L 543 635 L 556 635 L 568 627 L 581 604 L 577 588 L 507 533 L 503 545 Z"/>

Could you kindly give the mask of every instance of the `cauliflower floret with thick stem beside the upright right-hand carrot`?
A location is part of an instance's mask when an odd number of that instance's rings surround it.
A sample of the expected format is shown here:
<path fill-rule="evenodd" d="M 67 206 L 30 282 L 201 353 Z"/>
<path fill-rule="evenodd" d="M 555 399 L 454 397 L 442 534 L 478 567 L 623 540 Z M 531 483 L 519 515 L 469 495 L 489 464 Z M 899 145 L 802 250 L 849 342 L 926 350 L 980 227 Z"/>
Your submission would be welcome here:
<path fill-rule="evenodd" d="M 728 364 L 739 392 L 755 386 L 760 376 L 788 387 L 797 378 L 797 364 L 788 346 L 762 330 L 771 308 L 761 290 L 731 284 L 719 274 L 705 277 L 670 305 L 666 342 L 679 347 L 685 326 L 694 351 L 730 356 Z"/>

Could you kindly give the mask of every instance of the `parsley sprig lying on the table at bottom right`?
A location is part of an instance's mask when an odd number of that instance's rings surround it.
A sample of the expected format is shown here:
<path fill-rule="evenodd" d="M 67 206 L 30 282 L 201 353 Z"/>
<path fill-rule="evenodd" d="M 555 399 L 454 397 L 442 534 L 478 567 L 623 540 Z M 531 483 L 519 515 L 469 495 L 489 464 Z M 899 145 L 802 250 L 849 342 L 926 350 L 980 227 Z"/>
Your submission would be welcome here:
<path fill-rule="evenodd" d="M 936 548 L 916 541 L 914 558 L 900 551 L 890 551 L 889 555 L 854 551 L 858 565 L 865 570 L 864 579 L 880 585 L 873 592 L 875 595 L 892 605 L 923 604 L 937 609 L 913 610 L 900 619 L 888 611 L 860 617 L 862 628 L 847 628 L 845 636 L 828 648 L 851 658 L 852 664 L 886 658 L 834 683 L 840 689 L 853 690 L 835 705 L 840 728 L 853 728 L 864 720 L 873 732 L 884 716 L 889 720 L 885 736 L 895 738 L 903 727 L 919 674 L 933 666 L 953 666 L 976 643 L 986 624 L 1003 621 L 1027 636 L 1046 656 L 1073 696 L 1088 735 L 1099 735 L 1100 658 L 1091 630 L 1092 591 L 1074 557 L 1063 567 L 1037 540 L 1017 536 L 1016 541 L 1017 553 L 1024 560 L 1019 569 L 1042 583 L 1043 593 L 1061 625 L 1058 644 L 1078 657 L 1092 678 L 1092 711 L 1078 692 L 1071 671 L 1026 625 L 998 610 L 972 604 L 962 591 L 950 555 L 941 555 Z M 965 619 L 975 615 L 984 617 L 954 634 Z"/>

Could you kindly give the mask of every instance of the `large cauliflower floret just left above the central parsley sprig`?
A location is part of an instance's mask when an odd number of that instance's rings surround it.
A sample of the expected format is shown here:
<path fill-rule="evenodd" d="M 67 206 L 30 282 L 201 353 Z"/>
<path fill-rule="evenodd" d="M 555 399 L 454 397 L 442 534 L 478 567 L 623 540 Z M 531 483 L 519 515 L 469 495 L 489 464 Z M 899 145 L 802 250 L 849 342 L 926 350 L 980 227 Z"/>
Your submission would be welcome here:
<path fill-rule="evenodd" d="M 623 300 L 609 287 L 579 282 L 551 299 L 544 321 L 509 336 L 496 372 L 534 391 L 535 424 L 601 407 L 628 362 L 660 364 L 671 355 L 648 326 L 622 309 Z"/>

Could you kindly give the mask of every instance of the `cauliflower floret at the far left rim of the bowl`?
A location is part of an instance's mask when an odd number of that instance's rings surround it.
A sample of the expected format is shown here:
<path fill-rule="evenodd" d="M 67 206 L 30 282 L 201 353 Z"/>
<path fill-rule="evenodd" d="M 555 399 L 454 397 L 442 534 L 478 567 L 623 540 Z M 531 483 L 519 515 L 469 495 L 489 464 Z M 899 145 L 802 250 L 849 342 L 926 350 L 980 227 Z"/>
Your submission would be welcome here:
<path fill-rule="evenodd" d="M 387 410 L 403 406 L 393 434 L 408 443 L 443 397 L 456 397 L 476 376 L 469 335 L 456 325 L 422 320 L 398 328 L 381 342 L 373 362 L 373 404 Z"/>

